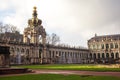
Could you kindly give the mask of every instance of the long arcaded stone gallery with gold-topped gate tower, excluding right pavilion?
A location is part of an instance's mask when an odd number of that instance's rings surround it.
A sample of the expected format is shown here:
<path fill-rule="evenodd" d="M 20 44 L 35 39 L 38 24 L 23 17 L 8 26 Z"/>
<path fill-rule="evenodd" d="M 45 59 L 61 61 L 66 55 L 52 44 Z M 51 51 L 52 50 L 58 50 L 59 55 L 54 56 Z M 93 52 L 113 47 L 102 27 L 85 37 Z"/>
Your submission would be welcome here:
<path fill-rule="evenodd" d="M 34 7 L 32 18 L 24 34 L 5 32 L 0 34 L 0 67 L 10 64 L 88 63 L 89 50 L 46 44 L 46 31 L 37 18 Z M 39 37 L 42 42 L 39 42 Z M 3 51 L 5 50 L 5 51 Z M 6 52 L 7 50 L 7 52 Z M 7 58 L 10 56 L 10 59 Z M 7 62 L 3 65 L 3 63 Z"/>

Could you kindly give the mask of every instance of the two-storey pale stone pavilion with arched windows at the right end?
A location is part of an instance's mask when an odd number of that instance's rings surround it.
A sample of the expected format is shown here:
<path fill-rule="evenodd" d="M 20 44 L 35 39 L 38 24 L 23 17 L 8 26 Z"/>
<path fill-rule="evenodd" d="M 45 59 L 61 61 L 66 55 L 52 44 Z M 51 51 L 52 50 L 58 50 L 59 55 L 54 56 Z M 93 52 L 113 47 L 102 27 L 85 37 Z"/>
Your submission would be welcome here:
<path fill-rule="evenodd" d="M 88 40 L 90 63 L 120 63 L 120 34 L 97 36 Z"/>

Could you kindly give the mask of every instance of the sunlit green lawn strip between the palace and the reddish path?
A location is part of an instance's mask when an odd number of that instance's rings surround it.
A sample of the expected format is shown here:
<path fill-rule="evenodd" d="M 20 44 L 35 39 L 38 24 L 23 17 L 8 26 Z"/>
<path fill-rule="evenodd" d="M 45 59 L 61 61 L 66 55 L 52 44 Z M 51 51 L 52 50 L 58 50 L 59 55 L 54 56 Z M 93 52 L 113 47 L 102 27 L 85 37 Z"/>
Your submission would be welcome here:
<path fill-rule="evenodd" d="M 106 65 L 105 65 L 106 66 Z M 29 69 L 49 69 L 49 70 L 84 70 L 84 71 L 115 71 L 120 72 L 120 68 L 108 68 L 104 65 L 87 65 L 87 64 L 52 64 L 52 65 L 26 65 L 13 66 Z"/>

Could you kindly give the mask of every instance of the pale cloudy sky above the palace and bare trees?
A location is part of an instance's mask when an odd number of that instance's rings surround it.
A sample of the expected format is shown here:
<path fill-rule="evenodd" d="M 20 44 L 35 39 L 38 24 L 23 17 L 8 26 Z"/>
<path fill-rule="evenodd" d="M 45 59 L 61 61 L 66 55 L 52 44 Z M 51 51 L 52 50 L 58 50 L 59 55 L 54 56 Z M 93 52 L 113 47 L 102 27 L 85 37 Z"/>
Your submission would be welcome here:
<path fill-rule="evenodd" d="M 61 43 L 87 47 L 95 33 L 120 34 L 120 0 L 0 0 L 0 21 L 23 33 L 33 6 L 47 33 L 59 35 Z"/>

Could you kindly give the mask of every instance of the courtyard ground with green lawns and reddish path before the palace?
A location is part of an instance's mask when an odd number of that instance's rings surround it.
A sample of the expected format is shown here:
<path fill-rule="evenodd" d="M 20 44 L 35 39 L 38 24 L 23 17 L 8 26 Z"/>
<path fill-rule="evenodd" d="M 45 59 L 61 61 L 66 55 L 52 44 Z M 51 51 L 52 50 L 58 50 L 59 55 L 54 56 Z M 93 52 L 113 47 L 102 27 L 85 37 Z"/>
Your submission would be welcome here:
<path fill-rule="evenodd" d="M 120 80 L 117 64 L 45 64 L 19 65 L 12 68 L 29 68 L 32 73 L 0 75 L 0 80 Z"/>

